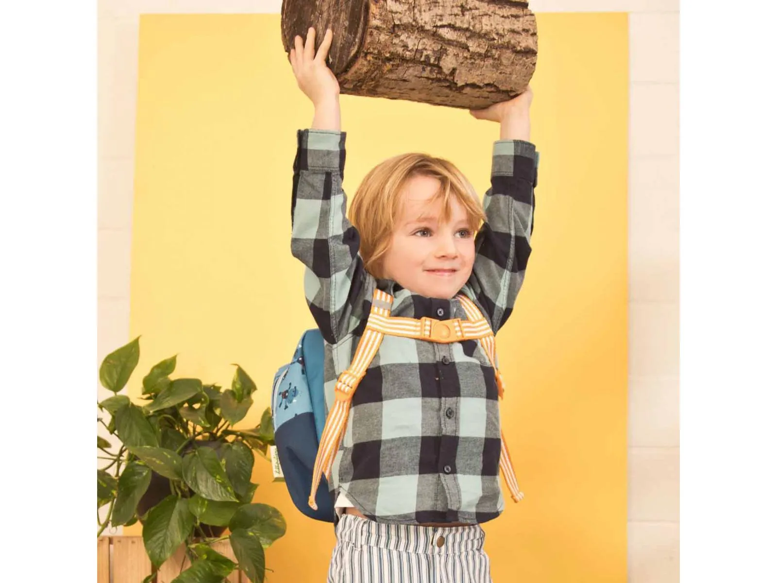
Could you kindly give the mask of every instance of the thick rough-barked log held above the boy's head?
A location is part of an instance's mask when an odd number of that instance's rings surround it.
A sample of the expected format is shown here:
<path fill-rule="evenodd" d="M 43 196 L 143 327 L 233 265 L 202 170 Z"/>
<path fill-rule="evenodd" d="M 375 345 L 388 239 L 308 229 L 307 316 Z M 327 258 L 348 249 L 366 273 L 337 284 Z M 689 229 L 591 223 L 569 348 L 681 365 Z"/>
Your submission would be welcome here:
<path fill-rule="evenodd" d="M 331 28 L 340 93 L 481 109 L 523 93 L 537 21 L 521 0 L 283 0 L 284 50 Z"/>

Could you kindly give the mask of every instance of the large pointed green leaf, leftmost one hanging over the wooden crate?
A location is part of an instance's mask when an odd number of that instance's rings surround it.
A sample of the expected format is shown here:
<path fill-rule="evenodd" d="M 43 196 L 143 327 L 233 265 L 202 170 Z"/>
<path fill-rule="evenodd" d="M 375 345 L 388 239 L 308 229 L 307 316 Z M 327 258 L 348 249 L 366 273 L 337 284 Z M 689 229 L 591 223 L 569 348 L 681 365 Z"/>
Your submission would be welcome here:
<path fill-rule="evenodd" d="M 186 540 L 195 522 L 189 501 L 170 494 L 148 511 L 143 525 L 143 543 L 148 558 L 159 567 Z"/>

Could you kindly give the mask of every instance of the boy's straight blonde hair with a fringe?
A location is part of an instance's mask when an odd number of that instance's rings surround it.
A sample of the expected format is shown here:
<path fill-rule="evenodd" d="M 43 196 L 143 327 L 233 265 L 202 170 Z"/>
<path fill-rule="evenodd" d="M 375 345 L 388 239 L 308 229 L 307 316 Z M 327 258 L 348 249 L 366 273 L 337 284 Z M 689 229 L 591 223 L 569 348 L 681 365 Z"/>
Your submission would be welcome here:
<path fill-rule="evenodd" d="M 440 190 L 429 202 L 442 201 L 444 221 L 451 218 L 451 199 L 465 208 L 473 232 L 486 220 L 475 189 L 448 160 L 415 152 L 384 160 L 364 176 L 348 212 L 348 219 L 361 236 L 359 251 L 364 268 L 376 278 L 383 277 L 381 259 L 389 250 L 396 218 L 402 210 L 399 195 L 415 176 L 431 176 L 440 181 Z"/>

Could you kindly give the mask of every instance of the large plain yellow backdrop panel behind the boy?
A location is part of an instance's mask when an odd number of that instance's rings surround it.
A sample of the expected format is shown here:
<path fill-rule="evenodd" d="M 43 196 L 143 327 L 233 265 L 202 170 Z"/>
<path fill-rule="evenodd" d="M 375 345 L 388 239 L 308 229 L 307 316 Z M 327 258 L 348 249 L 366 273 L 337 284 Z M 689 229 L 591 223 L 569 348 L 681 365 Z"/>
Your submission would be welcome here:
<path fill-rule="evenodd" d="M 484 525 L 493 581 L 626 581 L 627 107 L 625 14 L 539 14 L 531 82 L 541 152 L 533 253 L 497 337 L 503 424 L 519 504 Z M 498 126 L 464 110 L 343 96 L 344 187 L 371 166 L 425 151 L 489 185 Z M 259 389 L 313 326 L 290 252 L 297 89 L 279 15 L 141 16 L 131 264 L 131 379 L 179 354 L 176 375 L 228 386 L 239 363 Z M 301 515 L 256 459 L 255 501 L 287 534 L 269 581 L 324 581 L 332 525 Z M 125 529 L 139 534 L 140 526 Z"/>

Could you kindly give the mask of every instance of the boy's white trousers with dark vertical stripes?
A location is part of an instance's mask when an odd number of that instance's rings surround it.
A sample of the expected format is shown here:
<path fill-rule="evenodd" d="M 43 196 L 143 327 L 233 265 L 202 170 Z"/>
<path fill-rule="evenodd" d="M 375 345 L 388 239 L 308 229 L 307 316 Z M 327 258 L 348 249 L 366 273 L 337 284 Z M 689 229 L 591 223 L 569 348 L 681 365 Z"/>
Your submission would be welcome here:
<path fill-rule="evenodd" d="M 327 583 L 491 583 L 480 525 L 434 528 L 343 515 Z"/>

